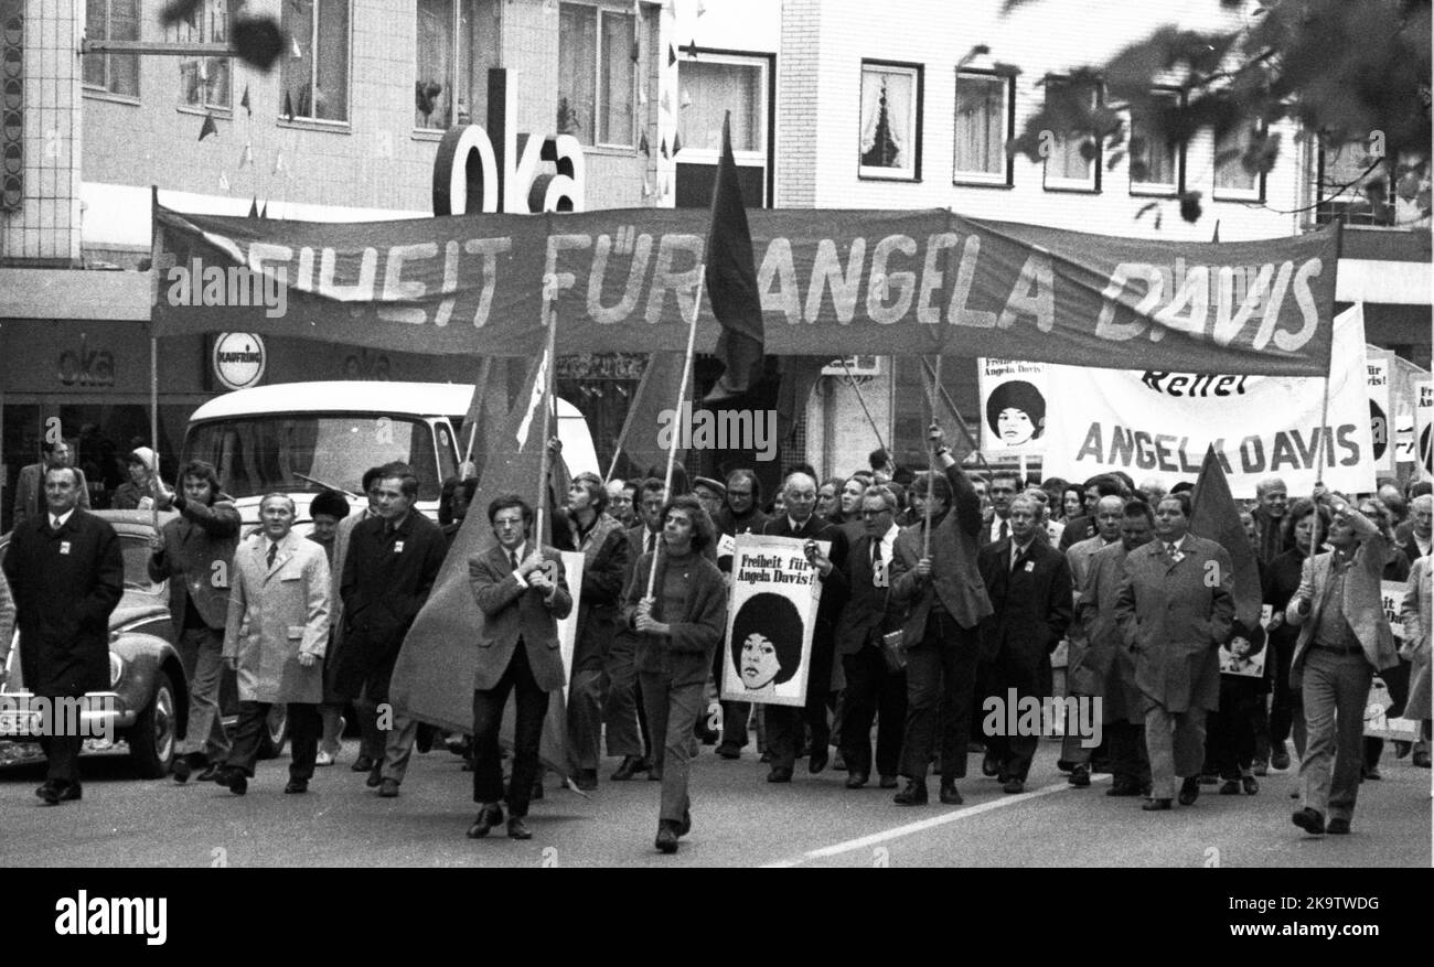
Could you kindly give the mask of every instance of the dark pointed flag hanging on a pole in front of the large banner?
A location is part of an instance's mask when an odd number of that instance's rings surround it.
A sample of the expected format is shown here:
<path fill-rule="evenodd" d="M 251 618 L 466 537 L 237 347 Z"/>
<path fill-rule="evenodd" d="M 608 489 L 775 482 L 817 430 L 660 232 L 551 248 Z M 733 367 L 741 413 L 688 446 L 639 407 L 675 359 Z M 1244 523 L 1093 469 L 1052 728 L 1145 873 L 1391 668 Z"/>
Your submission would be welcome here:
<path fill-rule="evenodd" d="M 707 394 L 706 404 L 751 391 L 763 372 L 761 298 L 751 255 L 751 231 L 731 156 L 731 112 L 721 125 L 721 160 L 713 186 L 713 221 L 707 234 L 707 299 L 721 324 L 717 358 L 726 371 Z"/>

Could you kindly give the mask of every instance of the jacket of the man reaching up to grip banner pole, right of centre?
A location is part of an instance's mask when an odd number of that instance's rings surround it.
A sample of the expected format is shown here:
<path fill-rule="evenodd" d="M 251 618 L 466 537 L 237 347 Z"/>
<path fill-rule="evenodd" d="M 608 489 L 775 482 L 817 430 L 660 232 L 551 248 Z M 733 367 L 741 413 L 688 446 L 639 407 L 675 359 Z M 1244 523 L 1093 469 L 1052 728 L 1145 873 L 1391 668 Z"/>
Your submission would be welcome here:
<path fill-rule="evenodd" d="M 977 544 L 981 537 L 981 499 L 958 464 L 946 467 L 954 506 L 931 533 L 931 580 L 916 577 L 925 521 L 906 527 L 896 539 L 892 554 L 892 599 L 906 612 L 906 645 L 915 646 L 926 633 L 931 606 L 941 605 L 967 630 L 975 629 L 991 613 L 991 599 L 977 569 Z"/>

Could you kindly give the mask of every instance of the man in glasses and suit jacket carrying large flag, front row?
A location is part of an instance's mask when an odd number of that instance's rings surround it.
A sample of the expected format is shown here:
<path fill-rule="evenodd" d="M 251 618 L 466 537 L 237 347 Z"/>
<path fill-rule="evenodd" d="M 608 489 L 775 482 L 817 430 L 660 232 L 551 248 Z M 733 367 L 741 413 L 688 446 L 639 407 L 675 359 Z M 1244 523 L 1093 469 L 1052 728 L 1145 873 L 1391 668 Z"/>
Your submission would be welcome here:
<path fill-rule="evenodd" d="M 502 754 L 498 732 L 509 692 L 516 692 L 513 772 L 508 782 L 508 835 L 531 839 L 523 821 L 538 779 L 538 746 L 548 715 L 548 695 L 565 683 L 558 653 L 558 622 L 572 610 L 562 557 L 531 537 L 533 511 L 518 494 L 488 504 L 498 543 L 467 562 L 473 596 L 483 612 L 473 675 L 473 801 L 478 818 L 472 839 L 503 821 Z"/>

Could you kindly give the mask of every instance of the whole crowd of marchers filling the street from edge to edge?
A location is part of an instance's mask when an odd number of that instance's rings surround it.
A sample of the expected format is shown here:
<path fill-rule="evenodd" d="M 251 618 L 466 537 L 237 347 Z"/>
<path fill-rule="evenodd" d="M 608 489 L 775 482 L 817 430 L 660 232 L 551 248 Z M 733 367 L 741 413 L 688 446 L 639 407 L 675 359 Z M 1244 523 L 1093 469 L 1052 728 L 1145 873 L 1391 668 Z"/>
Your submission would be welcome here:
<path fill-rule="evenodd" d="M 1375 675 L 1394 702 L 1388 718 L 1418 729 L 1395 754 L 1428 768 L 1428 483 L 1291 500 L 1281 480 L 1262 481 L 1240 513 L 1249 546 L 1235 550 L 1256 560 L 1269 619 L 1242 623 L 1232 549 L 1190 530 L 1192 483 L 1169 493 L 1121 474 L 1037 484 L 964 467 L 936 425 L 929 447 L 921 471 L 892 466 L 885 451 L 846 478 L 793 467 L 767 503 L 747 468 L 691 486 L 680 467 L 671 486 L 578 474 L 546 542 L 535 494 L 492 497 L 480 513 L 493 540 L 466 562 L 483 613 L 470 736 L 407 718 L 389 689 L 475 480 L 445 481 L 433 523 L 414 510 L 410 467 L 374 467 L 360 481 L 363 511 L 326 491 L 310 507 L 313 533 L 300 537 L 285 494 L 267 496 L 260 527 L 244 534 L 209 464 L 185 466 L 174 489 L 153 476 L 145 497 L 178 516 L 155 536 L 148 566 L 171 583 L 176 633 L 196 655 L 174 779 L 244 795 L 268 713 L 284 705 L 284 792 L 307 792 L 315 768 L 341 758 L 341 715 L 353 708 L 360 742 L 350 766 L 380 797 L 399 795 L 414 748 L 442 736 L 465 756 L 472 838 L 499 827 L 529 838 L 545 774 L 597 789 L 605 751 L 617 761 L 608 781 L 661 784 L 655 847 L 675 852 L 693 828 L 688 775 L 704 744 L 740 759 L 754 733 L 767 782 L 792 782 L 804 758 L 813 775 L 845 771 L 849 789 L 895 789 L 901 807 L 926 805 L 934 775 L 939 801 L 959 805 L 968 756 L 1015 795 L 1040 749 L 1040 731 L 988 728 L 1005 719 L 982 709 L 1064 692 L 1100 709 L 1098 744 L 1065 723 L 1058 766 L 1073 786 L 1107 772 L 1107 795 L 1143 798 L 1154 812 L 1195 805 L 1205 784 L 1255 795 L 1256 776 L 1298 759 L 1295 825 L 1344 834 L 1359 784 L 1381 775 L 1384 744 L 1364 735 Z M 0 573 L 0 683 L 17 626 L 34 695 L 102 691 L 119 544 L 82 506 L 77 471 L 42 461 L 33 476 L 34 513 L 16 527 Z M 728 640 L 724 539 L 746 533 L 800 542 L 820 584 L 807 650 L 802 622 L 780 616 L 739 622 Z M 561 550 L 582 554 L 576 596 Z M 1402 640 L 1381 600 L 1385 580 L 1408 589 Z M 558 623 L 574 609 L 564 668 Z M 1259 668 L 1262 650 L 1263 672 L 1240 673 Z M 802 706 L 720 698 L 727 665 L 760 699 L 803 662 Z M 218 706 L 225 666 L 238 679 L 232 729 Z M 545 764 L 548 705 L 565 688 L 568 762 Z M 511 696 L 513 725 L 500 742 Z M 43 748 L 42 802 L 80 799 L 80 739 L 47 736 Z"/>

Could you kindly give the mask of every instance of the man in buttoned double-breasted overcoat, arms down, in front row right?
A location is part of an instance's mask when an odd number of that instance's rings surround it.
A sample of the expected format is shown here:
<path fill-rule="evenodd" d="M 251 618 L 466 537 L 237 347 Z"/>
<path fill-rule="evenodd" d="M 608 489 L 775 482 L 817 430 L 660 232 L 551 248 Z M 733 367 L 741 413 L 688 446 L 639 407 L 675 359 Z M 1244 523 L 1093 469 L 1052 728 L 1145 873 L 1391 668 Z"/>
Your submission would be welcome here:
<path fill-rule="evenodd" d="M 1230 554 L 1189 527 L 1189 494 L 1163 499 L 1156 509 L 1157 540 L 1126 554 L 1116 602 L 1146 699 L 1147 811 L 1170 808 L 1176 776 L 1184 779 L 1180 805 L 1195 805 L 1200 795 L 1205 718 L 1219 708 L 1219 649 L 1235 622 Z"/>

